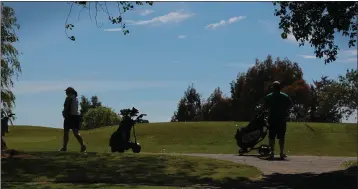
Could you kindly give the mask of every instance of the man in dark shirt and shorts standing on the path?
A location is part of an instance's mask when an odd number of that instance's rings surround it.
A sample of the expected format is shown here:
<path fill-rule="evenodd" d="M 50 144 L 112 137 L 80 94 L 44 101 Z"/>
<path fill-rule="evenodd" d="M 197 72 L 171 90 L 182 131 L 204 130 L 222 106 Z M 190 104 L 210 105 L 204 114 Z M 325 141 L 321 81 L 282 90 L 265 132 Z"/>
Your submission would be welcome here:
<path fill-rule="evenodd" d="M 265 108 L 269 111 L 269 145 L 271 147 L 271 158 L 274 158 L 275 153 L 275 139 L 279 140 L 280 158 L 286 158 L 284 154 L 285 135 L 286 135 L 286 121 L 288 111 L 292 105 L 290 97 L 281 92 L 281 84 L 278 81 L 272 84 L 272 93 L 265 97 Z"/>

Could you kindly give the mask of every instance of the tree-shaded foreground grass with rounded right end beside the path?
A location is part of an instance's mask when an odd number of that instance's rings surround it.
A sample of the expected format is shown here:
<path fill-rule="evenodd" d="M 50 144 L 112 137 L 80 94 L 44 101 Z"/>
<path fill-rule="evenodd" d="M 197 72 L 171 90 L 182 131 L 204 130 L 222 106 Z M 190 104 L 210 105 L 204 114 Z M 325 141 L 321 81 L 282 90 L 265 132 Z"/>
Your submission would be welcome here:
<path fill-rule="evenodd" d="M 29 152 L 1 166 L 3 188 L 27 189 L 223 186 L 261 175 L 247 165 L 179 155 Z"/>

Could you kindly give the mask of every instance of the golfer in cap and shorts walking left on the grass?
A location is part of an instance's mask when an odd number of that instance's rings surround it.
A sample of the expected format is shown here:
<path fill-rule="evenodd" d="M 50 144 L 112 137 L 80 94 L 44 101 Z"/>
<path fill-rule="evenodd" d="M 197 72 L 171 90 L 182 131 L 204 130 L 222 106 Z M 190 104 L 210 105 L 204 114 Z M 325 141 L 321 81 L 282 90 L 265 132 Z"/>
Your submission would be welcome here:
<path fill-rule="evenodd" d="M 83 144 L 83 139 L 79 133 L 81 126 L 81 118 L 78 112 L 78 99 L 77 91 L 68 87 L 66 90 L 66 100 L 64 103 L 64 108 L 62 111 L 63 121 L 63 147 L 60 151 L 67 151 L 67 143 L 69 139 L 70 129 L 72 130 L 73 135 L 77 139 L 78 143 L 81 145 L 81 152 L 86 151 L 86 146 Z"/>

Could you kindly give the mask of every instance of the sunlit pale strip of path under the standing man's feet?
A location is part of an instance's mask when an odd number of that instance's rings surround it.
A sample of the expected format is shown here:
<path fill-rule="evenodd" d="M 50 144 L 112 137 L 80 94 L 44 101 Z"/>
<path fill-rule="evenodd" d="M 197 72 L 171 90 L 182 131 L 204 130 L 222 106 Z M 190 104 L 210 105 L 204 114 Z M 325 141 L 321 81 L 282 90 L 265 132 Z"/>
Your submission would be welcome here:
<path fill-rule="evenodd" d="M 183 154 L 228 160 L 236 163 L 244 163 L 260 169 L 264 175 L 273 173 L 297 174 L 297 173 L 325 173 L 342 170 L 341 163 L 347 160 L 357 160 L 357 157 L 327 157 L 327 156 L 289 156 L 285 161 L 262 160 L 255 156 L 238 156 L 233 154 Z"/>

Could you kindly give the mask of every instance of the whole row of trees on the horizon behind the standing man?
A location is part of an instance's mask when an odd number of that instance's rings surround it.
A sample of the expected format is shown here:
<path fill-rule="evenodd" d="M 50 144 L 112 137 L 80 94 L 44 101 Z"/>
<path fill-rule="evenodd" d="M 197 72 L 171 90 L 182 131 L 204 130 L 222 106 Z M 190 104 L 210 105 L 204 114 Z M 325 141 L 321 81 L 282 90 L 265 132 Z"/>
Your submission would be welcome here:
<path fill-rule="evenodd" d="M 298 63 L 287 58 L 274 61 L 268 55 L 264 61 L 256 59 L 254 66 L 237 75 L 230 83 L 230 96 L 217 87 L 205 99 L 194 84 L 188 86 L 171 122 L 250 121 L 276 80 L 293 101 L 290 121 L 339 123 L 357 110 L 357 70 L 347 70 L 336 80 L 322 76 L 308 84 Z"/>

